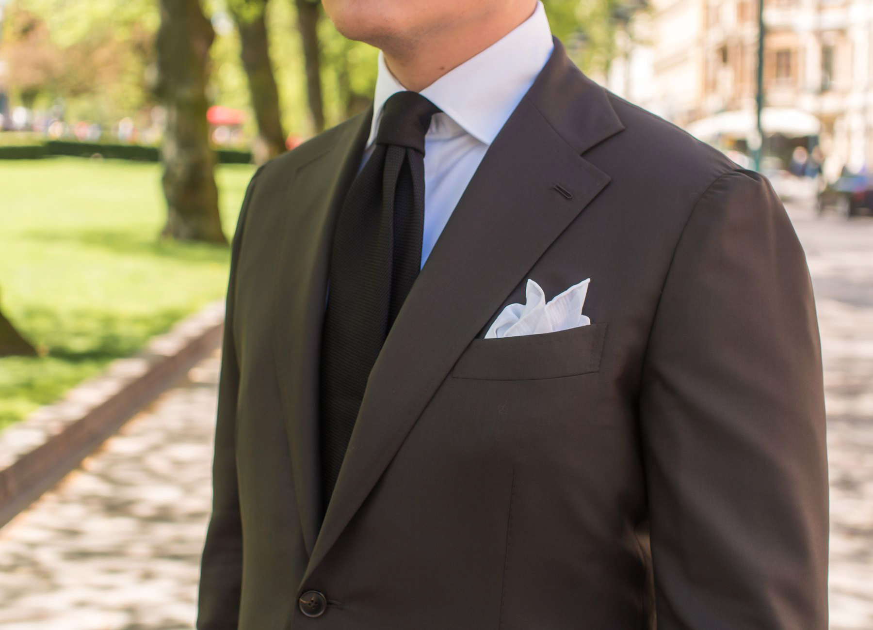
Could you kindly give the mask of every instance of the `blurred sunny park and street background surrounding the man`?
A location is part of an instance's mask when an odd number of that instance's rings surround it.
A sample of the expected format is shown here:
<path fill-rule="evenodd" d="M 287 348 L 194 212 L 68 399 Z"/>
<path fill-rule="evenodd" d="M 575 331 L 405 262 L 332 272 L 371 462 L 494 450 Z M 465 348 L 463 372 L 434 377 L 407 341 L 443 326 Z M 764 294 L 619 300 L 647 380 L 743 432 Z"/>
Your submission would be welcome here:
<path fill-rule="evenodd" d="M 785 202 L 821 322 L 831 627 L 873 629 L 873 0 L 544 3 L 584 72 Z M 312 0 L 0 0 L 4 629 L 193 626 L 215 339 L 148 397 L 105 376 L 220 303 L 254 169 L 366 108 L 375 58 Z M 31 503 L 64 404 L 125 397 Z"/>

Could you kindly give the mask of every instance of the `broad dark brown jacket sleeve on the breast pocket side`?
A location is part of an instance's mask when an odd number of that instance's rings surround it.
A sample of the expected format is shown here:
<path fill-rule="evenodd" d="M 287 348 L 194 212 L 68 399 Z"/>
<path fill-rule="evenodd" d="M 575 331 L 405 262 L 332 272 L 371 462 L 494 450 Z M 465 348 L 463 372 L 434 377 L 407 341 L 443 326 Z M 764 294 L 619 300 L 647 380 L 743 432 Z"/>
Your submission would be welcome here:
<path fill-rule="evenodd" d="M 643 367 L 658 630 L 826 630 L 821 348 L 773 188 L 718 177 L 684 227 Z"/>

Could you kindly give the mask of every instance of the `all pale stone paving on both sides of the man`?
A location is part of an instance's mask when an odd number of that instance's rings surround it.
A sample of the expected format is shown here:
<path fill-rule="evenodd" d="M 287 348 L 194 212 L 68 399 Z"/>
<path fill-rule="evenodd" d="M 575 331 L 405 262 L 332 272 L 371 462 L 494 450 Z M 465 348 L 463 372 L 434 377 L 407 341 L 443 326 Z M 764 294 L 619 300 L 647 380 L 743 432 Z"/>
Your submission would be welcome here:
<path fill-rule="evenodd" d="M 873 630 L 873 219 L 790 208 L 828 393 L 831 630 Z M 0 530 L 3 630 L 190 630 L 217 353 Z"/>

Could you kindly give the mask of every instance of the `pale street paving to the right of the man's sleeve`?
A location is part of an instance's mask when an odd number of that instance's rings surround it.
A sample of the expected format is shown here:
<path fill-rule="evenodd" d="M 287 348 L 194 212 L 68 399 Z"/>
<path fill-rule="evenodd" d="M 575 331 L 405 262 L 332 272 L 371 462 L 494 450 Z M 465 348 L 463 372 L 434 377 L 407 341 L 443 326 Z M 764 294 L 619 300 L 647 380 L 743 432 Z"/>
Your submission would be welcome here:
<path fill-rule="evenodd" d="M 831 630 L 873 630 L 873 218 L 789 205 L 821 328 L 830 469 Z"/>

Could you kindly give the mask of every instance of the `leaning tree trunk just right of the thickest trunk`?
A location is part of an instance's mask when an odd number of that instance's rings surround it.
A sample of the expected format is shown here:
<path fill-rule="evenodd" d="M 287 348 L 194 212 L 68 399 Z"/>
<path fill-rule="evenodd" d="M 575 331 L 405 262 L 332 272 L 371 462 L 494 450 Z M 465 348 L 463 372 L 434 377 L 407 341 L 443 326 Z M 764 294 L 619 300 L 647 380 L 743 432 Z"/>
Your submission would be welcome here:
<path fill-rule="evenodd" d="M 249 79 L 251 107 L 258 120 L 258 139 L 253 153 L 255 161 L 260 164 L 285 152 L 278 89 L 267 39 L 267 0 L 236 0 L 229 2 L 228 6 L 237 22 L 243 67 Z"/>

